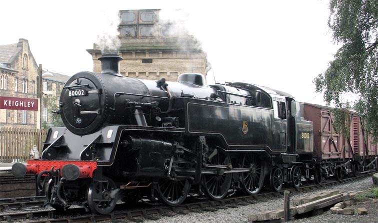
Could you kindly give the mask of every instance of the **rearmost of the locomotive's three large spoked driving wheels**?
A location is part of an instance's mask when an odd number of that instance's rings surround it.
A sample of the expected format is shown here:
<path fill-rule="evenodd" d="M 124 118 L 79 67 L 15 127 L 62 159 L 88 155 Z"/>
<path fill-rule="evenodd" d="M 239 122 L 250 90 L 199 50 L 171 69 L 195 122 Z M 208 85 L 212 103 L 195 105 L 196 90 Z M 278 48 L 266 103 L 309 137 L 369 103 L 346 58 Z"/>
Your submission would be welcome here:
<path fill-rule="evenodd" d="M 241 173 L 241 189 L 247 195 L 255 195 L 260 192 L 264 180 L 264 168 L 257 157 L 246 154 L 243 157 L 241 168 L 249 168 L 249 172 Z M 281 183 L 282 186 L 282 183 Z"/>

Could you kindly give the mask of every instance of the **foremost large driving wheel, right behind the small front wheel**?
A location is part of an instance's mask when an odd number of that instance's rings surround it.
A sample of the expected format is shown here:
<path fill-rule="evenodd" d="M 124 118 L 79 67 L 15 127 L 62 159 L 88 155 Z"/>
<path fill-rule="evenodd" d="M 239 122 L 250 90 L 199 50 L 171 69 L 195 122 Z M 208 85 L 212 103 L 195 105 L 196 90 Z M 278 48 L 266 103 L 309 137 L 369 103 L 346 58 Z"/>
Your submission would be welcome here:
<path fill-rule="evenodd" d="M 157 182 L 157 195 L 159 199 L 169 206 L 180 205 L 189 194 L 188 180 L 173 181 L 161 179 Z"/>

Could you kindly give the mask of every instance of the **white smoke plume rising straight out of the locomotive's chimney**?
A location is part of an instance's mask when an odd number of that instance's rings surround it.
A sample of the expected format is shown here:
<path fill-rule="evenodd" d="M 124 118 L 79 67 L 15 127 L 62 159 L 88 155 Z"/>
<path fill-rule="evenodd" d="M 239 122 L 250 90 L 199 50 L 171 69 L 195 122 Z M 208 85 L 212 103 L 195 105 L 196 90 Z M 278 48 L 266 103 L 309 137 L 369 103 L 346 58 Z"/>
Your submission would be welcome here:
<path fill-rule="evenodd" d="M 94 48 L 104 54 L 118 54 L 120 47 L 118 24 L 119 16 L 107 17 L 102 24 L 102 32 L 97 35 Z"/>

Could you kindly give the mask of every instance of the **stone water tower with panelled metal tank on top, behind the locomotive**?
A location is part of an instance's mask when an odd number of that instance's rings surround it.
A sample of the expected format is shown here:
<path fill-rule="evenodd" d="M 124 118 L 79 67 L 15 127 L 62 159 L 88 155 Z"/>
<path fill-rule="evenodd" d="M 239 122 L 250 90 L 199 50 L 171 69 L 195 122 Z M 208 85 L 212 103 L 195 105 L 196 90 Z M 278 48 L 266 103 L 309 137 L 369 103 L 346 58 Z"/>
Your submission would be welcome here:
<path fill-rule="evenodd" d="M 206 76 L 207 60 L 197 40 L 176 31 L 176 24 L 159 20 L 159 9 L 120 10 L 118 55 L 120 73 L 140 79 L 177 81 L 181 73 Z M 94 44 L 87 49 L 92 55 L 93 71 L 101 71 L 98 58 L 106 46 Z"/>

